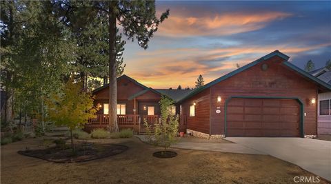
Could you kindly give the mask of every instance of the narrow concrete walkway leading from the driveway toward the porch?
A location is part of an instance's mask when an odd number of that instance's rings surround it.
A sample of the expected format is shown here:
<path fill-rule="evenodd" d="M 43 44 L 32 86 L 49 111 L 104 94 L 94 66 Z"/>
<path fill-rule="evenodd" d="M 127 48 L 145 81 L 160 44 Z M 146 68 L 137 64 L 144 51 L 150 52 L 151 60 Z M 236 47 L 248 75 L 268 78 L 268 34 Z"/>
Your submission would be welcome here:
<path fill-rule="evenodd" d="M 141 141 L 147 142 L 146 136 L 136 135 Z M 239 153 L 239 154 L 265 154 L 252 148 L 239 145 L 236 143 L 197 143 L 197 142 L 181 142 L 172 145 L 171 147 L 184 149 L 184 150 L 201 150 L 201 151 L 212 151 L 212 152 L 228 152 L 228 153 Z"/>

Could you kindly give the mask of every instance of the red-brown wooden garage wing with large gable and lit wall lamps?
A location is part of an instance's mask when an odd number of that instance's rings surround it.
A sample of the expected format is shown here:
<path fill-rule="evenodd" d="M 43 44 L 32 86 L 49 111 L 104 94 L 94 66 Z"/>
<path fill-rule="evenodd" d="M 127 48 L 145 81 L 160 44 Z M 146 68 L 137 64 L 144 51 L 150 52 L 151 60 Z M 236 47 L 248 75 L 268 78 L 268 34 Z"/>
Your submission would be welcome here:
<path fill-rule="evenodd" d="M 194 90 L 177 103 L 199 136 L 317 135 L 317 98 L 331 85 L 278 50 Z M 330 110 L 330 109 L 329 109 Z"/>

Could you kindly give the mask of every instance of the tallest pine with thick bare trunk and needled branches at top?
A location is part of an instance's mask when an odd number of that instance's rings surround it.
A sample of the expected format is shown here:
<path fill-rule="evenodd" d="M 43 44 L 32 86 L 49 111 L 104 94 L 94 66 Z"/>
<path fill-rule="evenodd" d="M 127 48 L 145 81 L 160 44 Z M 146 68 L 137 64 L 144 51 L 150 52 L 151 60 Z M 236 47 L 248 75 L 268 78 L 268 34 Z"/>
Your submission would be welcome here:
<path fill-rule="evenodd" d="M 108 65 L 109 65 L 109 123 L 113 132 L 118 132 L 117 125 L 117 23 L 123 28 L 123 34 L 131 41 L 137 39 L 141 48 L 147 49 L 148 42 L 157 31 L 159 24 L 168 18 L 169 10 L 161 17 L 155 16 L 155 1 L 86 1 L 77 8 L 74 1 L 54 1 L 64 12 L 80 12 L 80 22 L 94 21 L 96 17 L 108 17 Z M 86 13 L 88 12 L 88 13 Z M 70 21 L 69 21 L 70 22 Z"/>

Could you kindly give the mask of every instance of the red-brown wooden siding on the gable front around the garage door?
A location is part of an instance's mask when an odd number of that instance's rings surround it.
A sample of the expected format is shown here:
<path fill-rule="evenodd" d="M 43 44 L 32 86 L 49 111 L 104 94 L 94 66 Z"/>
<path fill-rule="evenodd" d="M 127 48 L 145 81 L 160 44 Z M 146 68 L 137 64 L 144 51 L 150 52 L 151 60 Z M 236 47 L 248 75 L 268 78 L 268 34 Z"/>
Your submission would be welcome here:
<path fill-rule="evenodd" d="M 230 96 L 297 97 L 303 101 L 306 114 L 304 134 L 317 134 L 317 107 L 308 102 L 317 99 L 317 85 L 281 65 L 280 61 L 279 57 L 272 57 L 211 87 L 212 134 L 224 134 L 224 102 Z M 268 64 L 268 70 L 261 70 L 263 63 Z M 221 103 L 217 103 L 217 96 L 221 96 Z M 223 112 L 217 114 L 217 107 Z"/>

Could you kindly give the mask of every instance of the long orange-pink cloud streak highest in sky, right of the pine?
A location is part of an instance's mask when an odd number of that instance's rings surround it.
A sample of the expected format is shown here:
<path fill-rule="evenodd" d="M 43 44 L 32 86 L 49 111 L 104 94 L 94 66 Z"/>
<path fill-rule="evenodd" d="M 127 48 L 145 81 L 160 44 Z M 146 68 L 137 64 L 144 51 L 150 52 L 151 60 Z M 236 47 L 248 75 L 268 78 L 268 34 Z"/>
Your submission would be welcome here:
<path fill-rule="evenodd" d="M 224 36 L 264 28 L 267 23 L 290 17 L 285 12 L 227 13 L 185 17 L 170 14 L 157 34 L 168 37 Z"/>

